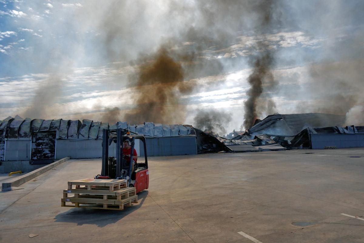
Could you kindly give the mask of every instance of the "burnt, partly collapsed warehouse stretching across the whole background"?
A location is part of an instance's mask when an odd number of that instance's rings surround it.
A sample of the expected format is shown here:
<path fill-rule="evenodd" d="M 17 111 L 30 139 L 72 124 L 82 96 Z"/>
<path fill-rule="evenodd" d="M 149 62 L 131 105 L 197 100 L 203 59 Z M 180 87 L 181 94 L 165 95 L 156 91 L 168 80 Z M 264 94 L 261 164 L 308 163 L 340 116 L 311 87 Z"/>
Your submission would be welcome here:
<path fill-rule="evenodd" d="M 0 161 L 100 158 L 103 129 L 116 128 L 145 135 L 148 156 L 364 147 L 364 127 L 344 122 L 345 116 L 323 113 L 274 114 L 227 139 L 190 125 L 7 117 L 0 121 Z"/>

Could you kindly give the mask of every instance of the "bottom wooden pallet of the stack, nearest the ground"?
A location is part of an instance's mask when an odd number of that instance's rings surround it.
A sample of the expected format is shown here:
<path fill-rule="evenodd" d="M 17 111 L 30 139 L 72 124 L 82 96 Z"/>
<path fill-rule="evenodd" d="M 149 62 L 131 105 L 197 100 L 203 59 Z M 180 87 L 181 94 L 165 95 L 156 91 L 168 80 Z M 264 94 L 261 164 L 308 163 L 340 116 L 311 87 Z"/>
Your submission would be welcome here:
<path fill-rule="evenodd" d="M 124 206 L 131 206 L 132 203 L 138 203 L 138 195 L 130 196 L 128 198 L 124 198 L 121 200 L 75 198 L 75 196 L 70 196 L 61 199 L 62 207 L 101 208 L 101 209 L 112 209 L 112 210 L 123 210 Z"/>

